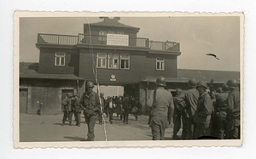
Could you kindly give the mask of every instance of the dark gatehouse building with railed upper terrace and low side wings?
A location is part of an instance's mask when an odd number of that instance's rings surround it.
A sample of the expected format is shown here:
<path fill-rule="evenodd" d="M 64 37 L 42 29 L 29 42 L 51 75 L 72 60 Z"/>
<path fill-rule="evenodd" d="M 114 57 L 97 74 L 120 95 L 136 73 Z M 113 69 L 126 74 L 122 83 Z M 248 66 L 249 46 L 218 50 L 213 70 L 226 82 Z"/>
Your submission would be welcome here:
<path fill-rule="evenodd" d="M 191 74 L 192 70 L 177 69 L 179 43 L 137 37 L 140 28 L 119 23 L 119 17 L 102 19 L 84 24 L 84 33 L 78 36 L 38 33 L 39 63 L 20 63 L 20 112 L 35 114 L 43 103 L 45 114 L 61 113 L 65 94 L 80 96 L 86 82 L 97 80 L 100 85 L 122 86 L 125 94 L 139 97 L 146 113 L 145 103 L 157 77 L 166 77 L 170 91 L 186 89 L 192 77 L 207 82 L 219 77 L 214 71 L 207 75 L 208 71 Z M 239 78 L 239 72 L 220 74 Z M 226 82 L 220 77 L 216 88 Z"/>

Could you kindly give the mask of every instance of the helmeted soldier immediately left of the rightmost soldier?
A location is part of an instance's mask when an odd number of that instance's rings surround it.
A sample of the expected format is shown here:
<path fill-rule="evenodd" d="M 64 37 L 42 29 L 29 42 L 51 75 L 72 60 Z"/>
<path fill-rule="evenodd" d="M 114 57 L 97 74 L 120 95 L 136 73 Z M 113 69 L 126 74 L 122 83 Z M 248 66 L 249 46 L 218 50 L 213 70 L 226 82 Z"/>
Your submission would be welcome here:
<path fill-rule="evenodd" d="M 230 89 L 227 84 L 222 87 L 223 93 L 216 95 L 216 118 L 218 126 L 218 139 L 224 139 L 227 128 L 227 99 Z"/>

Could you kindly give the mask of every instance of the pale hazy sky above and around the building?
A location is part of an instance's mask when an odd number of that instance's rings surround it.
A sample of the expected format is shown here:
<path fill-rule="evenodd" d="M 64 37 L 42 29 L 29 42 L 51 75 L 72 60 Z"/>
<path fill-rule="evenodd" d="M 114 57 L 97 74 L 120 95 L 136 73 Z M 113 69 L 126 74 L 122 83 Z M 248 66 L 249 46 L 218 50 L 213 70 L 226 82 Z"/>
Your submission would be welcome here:
<path fill-rule="evenodd" d="M 38 62 L 38 33 L 78 35 L 84 24 L 100 21 L 97 17 L 20 18 L 20 62 Z M 180 43 L 179 69 L 240 71 L 239 17 L 121 17 L 119 22 L 141 28 L 137 37 Z"/>

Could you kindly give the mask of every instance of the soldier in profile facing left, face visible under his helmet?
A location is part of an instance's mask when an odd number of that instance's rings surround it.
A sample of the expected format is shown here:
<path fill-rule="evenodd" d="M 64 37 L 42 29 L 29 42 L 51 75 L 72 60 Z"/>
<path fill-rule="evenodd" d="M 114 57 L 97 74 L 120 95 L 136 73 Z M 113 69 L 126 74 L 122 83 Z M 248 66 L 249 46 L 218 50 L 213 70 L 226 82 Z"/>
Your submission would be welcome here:
<path fill-rule="evenodd" d="M 210 136 L 211 115 L 213 111 L 212 99 L 207 93 L 207 83 L 198 82 L 196 86 L 200 97 L 197 103 L 197 111 L 195 112 L 195 139 L 203 136 Z"/>

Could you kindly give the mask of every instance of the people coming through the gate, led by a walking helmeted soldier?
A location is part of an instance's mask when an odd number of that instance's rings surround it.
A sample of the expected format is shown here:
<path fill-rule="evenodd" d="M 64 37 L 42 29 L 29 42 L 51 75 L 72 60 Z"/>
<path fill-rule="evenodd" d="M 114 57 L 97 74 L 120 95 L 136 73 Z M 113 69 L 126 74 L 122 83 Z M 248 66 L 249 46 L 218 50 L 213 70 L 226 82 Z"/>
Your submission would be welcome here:
<path fill-rule="evenodd" d="M 138 101 L 138 98 L 133 98 L 128 94 L 119 97 L 110 97 L 104 99 L 104 94 L 100 93 L 100 96 L 96 94 L 92 89 L 94 88 L 93 82 L 87 82 L 87 90 L 79 99 L 77 94 L 67 94 L 65 99 L 62 100 L 63 105 L 63 125 L 65 122 L 69 122 L 69 125 L 72 125 L 73 114 L 75 116 L 76 125 L 80 127 L 80 115 L 84 111 L 84 119 L 88 126 L 87 139 L 88 141 L 93 141 L 95 139 L 94 127 L 96 124 L 96 117 L 99 120 L 99 124 L 103 123 L 103 114 L 109 118 L 109 122 L 113 124 L 113 113 L 117 114 L 117 117 L 120 116 L 120 120 L 123 120 L 124 123 L 128 124 L 129 114 L 133 114 L 138 119 L 138 116 L 141 115 L 141 105 Z"/>

